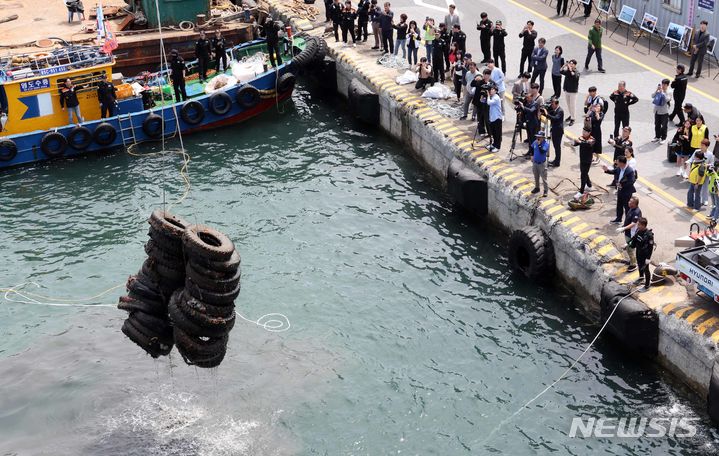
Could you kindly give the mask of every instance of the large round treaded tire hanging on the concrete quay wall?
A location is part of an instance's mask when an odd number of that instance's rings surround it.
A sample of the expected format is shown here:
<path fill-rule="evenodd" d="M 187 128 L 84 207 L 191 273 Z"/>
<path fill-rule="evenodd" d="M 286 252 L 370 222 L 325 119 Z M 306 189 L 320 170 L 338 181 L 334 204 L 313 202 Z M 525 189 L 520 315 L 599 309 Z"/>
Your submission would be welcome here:
<path fill-rule="evenodd" d="M 531 280 L 545 280 L 554 272 L 552 241 L 537 226 L 514 230 L 509 238 L 509 265 Z"/>

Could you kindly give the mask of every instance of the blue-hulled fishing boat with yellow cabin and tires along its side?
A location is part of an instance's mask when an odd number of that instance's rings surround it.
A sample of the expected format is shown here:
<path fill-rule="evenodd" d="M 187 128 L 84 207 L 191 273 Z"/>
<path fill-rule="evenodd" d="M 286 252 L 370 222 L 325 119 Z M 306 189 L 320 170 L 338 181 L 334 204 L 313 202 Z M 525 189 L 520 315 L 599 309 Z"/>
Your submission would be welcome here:
<path fill-rule="evenodd" d="M 299 37 L 285 44 L 294 57 L 284 56 L 276 68 L 268 68 L 264 62 L 264 39 L 228 49 L 229 60 L 243 74 L 240 79 L 233 78 L 234 67 L 230 65 L 220 75 L 230 83 L 214 91 L 208 91 L 207 83 L 198 80 L 197 62 L 190 62 L 186 101 L 174 99 L 166 69 L 142 79 L 116 77 L 113 81 L 114 58 L 100 47 L 68 46 L 49 53 L 2 58 L 0 168 L 96 153 L 254 117 L 292 95 L 295 74 L 301 66 L 324 58 L 318 52 L 322 47 L 318 38 Z M 255 70 L 248 74 L 247 68 L 242 70 L 242 63 L 252 59 Z M 68 124 L 68 114 L 60 104 L 60 89 L 66 79 L 80 87 L 76 93 L 82 121 L 77 124 Z M 97 95 L 97 85 L 103 80 L 113 81 L 119 89 L 116 115 L 109 118 L 101 118 Z"/>

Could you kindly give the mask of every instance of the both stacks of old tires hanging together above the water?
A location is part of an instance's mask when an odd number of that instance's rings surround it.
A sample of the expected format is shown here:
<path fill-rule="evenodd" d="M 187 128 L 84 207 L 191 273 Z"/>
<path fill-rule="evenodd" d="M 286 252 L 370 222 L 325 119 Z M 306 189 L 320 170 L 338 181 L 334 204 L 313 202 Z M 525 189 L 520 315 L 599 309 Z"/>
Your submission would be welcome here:
<path fill-rule="evenodd" d="M 216 367 L 225 357 L 240 294 L 240 255 L 219 231 L 155 210 L 148 257 L 127 280 L 118 308 L 122 332 L 153 358 L 173 345 L 189 365 Z"/>

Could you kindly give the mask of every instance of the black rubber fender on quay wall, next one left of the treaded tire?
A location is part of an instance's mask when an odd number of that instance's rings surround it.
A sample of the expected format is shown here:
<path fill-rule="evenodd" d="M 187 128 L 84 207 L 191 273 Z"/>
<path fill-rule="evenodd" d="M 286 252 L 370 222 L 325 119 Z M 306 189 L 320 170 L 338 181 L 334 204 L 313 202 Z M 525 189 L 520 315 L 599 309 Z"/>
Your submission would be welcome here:
<path fill-rule="evenodd" d="M 473 217 L 482 218 L 489 213 L 487 181 L 456 158 L 447 167 L 447 193 Z"/>

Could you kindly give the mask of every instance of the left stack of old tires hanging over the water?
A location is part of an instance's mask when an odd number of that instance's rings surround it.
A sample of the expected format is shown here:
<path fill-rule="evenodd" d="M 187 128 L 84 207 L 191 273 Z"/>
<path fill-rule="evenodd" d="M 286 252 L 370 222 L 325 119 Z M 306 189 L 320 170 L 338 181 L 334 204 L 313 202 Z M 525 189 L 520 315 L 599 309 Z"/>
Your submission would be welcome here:
<path fill-rule="evenodd" d="M 172 293 L 184 285 L 182 235 L 189 223 L 160 210 L 152 213 L 149 223 L 147 259 L 140 271 L 127 279 L 127 295 L 117 307 L 130 313 L 122 332 L 157 358 L 168 355 L 173 346 L 167 305 Z"/>

